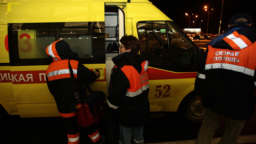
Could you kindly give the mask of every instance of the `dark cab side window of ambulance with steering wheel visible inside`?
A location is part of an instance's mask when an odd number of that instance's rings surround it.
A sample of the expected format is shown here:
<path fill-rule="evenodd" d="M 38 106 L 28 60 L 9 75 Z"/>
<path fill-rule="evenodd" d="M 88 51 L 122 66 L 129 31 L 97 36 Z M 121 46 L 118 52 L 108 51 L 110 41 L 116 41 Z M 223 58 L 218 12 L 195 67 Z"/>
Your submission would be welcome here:
<path fill-rule="evenodd" d="M 194 49 L 174 23 L 143 21 L 137 23 L 137 28 L 140 54 L 149 61 L 149 66 L 177 72 L 194 67 Z"/>

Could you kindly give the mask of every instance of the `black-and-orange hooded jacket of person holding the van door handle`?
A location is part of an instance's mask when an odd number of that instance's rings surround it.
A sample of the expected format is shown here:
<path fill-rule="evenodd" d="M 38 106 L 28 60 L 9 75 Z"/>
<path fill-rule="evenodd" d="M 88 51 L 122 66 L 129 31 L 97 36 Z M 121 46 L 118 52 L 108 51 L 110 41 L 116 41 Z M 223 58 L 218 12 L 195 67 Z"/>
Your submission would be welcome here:
<path fill-rule="evenodd" d="M 73 92 L 71 76 L 68 67 L 69 59 L 75 59 L 76 53 L 73 53 L 69 45 L 61 40 L 54 42 L 47 47 L 46 52 L 53 57 L 53 62 L 49 65 L 47 75 L 47 86 L 53 95 L 57 109 L 62 114 L 75 112 L 75 104 L 71 106 L 72 101 L 76 101 Z M 75 81 L 78 87 L 80 99 L 86 97 L 86 89 L 83 83 L 89 83 L 96 79 L 94 71 L 90 71 L 78 61 L 70 60 L 74 72 Z"/>

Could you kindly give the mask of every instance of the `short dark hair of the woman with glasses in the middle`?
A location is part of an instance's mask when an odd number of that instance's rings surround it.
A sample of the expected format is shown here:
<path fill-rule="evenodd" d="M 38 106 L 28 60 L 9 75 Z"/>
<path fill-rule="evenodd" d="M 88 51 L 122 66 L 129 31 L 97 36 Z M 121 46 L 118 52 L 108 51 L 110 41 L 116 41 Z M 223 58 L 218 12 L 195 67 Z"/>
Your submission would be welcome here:
<path fill-rule="evenodd" d="M 139 40 L 132 35 L 124 35 L 120 39 L 120 43 L 122 43 L 126 50 L 131 49 L 131 52 L 138 53 L 140 49 Z"/>

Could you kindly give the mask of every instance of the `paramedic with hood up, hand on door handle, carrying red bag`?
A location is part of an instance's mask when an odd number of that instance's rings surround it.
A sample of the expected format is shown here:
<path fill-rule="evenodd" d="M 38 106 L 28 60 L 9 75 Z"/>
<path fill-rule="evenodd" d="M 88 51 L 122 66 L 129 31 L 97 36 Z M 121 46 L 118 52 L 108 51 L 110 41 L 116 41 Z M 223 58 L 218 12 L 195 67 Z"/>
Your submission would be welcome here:
<path fill-rule="evenodd" d="M 69 44 L 64 40 L 50 44 L 46 48 L 46 53 L 53 58 L 53 62 L 46 71 L 48 89 L 53 95 L 59 114 L 66 125 L 68 144 L 79 144 L 80 127 L 75 113 L 75 104 L 73 104 L 76 98 L 74 97 L 68 61 L 70 60 L 73 69 L 80 98 L 86 97 L 83 83 L 93 82 L 97 78 L 98 72 L 90 71 L 80 62 L 75 61 L 74 59 L 78 57 L 77 53 L 72 52 Z M 96 125 L 83 129 L 95 144 L 104 141 Z"/>

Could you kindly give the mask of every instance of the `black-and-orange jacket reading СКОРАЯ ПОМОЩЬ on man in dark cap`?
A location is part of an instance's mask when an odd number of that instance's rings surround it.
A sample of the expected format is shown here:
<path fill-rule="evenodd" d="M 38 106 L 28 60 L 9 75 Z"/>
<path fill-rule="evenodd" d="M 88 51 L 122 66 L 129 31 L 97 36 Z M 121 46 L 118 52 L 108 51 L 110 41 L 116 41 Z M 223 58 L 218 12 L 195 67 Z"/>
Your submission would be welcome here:
<path fill-rule="evenodd" d="M 195 80 L 203 106 L 234 119 L 255 110 L 256 30 L 235 25 L 208 43 Z"/>

